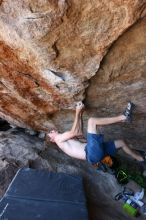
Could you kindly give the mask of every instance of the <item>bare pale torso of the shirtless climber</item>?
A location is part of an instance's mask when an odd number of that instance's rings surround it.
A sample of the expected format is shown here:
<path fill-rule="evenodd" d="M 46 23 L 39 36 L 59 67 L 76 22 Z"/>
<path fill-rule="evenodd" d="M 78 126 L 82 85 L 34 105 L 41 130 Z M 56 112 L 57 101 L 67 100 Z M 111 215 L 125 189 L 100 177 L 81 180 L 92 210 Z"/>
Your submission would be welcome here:
<path fill-rule="evenodd" d="M 58 140 L 56 139 L 56 144 L 63 152 L 69 156 L 82 160 L 86 159 L 85 146 L 87 143 L 81 143 L 75 139 L 69 139 L 67 141 L 60 142 L 58 138 Z"/>

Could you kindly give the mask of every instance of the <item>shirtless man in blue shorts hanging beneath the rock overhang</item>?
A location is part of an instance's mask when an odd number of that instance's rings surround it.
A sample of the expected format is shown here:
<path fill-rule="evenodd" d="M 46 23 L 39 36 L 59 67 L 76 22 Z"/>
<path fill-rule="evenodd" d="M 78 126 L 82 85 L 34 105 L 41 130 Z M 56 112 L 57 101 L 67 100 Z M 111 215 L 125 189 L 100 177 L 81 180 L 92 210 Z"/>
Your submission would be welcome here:
<path fill-rule="evenodd" d="M 100 134 L 99 127 L 117 122 L 131 121 L 133 103 L 129 102 L 123 114 L 109 118 L 89 118 L 87 126 L 87 142 L 82 143 L 76 138 L 82 133 L 82 114 L 84 105 L 78 102 L 73 126 L 70 131 L 59 133 L 57 130 L 50 131 L 47 136 L 51 142 L 55 142 L 58 147 L 71 157 L 83 159 L 97 164 L 105 156 L 114 156 L 119 148 L 129 154 L 137 161 L 144 161 L 143 157 L 132 151 L 123 140 L 104 141 L 103 134 Z"/>

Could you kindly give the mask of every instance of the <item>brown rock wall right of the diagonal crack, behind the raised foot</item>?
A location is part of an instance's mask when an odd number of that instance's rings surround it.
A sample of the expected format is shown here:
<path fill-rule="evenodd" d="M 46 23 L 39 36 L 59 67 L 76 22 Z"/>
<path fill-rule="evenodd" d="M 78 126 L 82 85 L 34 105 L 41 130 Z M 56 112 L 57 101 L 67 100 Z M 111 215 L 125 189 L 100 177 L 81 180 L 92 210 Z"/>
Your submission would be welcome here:
<path fill-rule="evenodd" d="M 146 149 L 146 18 L 111 47 L 91 80 L 86 103 L 94 115 L 113 116 L 123 111 L 128 100 L 136 104 L 133 123 L 108 126 L 105 132 Z"/>

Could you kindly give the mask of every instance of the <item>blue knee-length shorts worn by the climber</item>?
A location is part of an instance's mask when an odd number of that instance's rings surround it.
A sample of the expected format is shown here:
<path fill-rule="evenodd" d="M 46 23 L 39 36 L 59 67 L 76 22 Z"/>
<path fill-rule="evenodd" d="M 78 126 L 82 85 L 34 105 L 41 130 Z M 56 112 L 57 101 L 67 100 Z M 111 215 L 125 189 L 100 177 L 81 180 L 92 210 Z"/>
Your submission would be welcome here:
<path fill-rule="evenodd" d="M 104 142 L 103 134 L 87 133 L 85 152 L 88 162 L 96 164 L 107 155 L 114 156 L 117 149 L 114 141 Z"/>

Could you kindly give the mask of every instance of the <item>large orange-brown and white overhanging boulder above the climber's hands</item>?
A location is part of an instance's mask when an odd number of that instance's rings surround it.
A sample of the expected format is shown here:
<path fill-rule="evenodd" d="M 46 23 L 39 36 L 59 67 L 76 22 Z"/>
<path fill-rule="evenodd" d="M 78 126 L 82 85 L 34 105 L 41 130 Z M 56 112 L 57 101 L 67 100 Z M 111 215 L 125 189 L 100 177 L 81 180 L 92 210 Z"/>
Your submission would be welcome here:
<path fill-rule="evenodd" d="M 1 117 L 47 129 L 84 98 L 111 44 L 146 14 L 144 0 L 1 0 Z"/>

